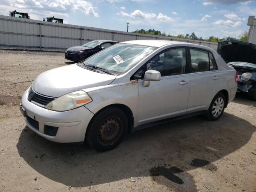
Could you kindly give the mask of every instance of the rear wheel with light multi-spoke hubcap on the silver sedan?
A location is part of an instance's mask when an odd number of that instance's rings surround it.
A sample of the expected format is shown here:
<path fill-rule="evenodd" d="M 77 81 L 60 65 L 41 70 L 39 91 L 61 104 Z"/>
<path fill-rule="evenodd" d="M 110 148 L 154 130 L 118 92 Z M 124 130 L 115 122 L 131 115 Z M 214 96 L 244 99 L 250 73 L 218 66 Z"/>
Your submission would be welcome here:
<path fill-rule="evenodd" d="M 210 121 L 218 120 L 225 109 L 226 106 L 226 97 L 223 93 L 219 92 L 213 98 L 208 111 L 205 114 L 205 117 Z"/>

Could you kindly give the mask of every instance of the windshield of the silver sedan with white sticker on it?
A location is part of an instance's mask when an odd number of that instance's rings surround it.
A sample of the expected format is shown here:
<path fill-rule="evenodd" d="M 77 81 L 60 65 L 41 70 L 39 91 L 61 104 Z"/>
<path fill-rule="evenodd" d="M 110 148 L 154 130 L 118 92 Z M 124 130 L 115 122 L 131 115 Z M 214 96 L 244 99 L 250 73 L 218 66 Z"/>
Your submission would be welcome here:
<path fill-rule="evenodd" d="M 103 68 L 112 74 L 123 74 L 156 50 L 156 47 L 118 43 L 78 63 L 78 66 Z"/>

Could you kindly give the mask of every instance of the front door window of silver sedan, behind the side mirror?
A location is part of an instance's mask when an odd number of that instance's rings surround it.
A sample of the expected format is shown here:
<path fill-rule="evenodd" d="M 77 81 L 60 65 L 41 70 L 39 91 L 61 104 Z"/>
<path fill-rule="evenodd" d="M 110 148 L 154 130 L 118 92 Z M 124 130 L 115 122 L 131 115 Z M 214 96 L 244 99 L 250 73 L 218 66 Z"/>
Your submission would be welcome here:
<path fill-rule="evenodd" d="M 147 70 L 156 70 L 161 76 L 184 74 L 186 69 L 186 48 L 166 50 L 147 64 Z"/>

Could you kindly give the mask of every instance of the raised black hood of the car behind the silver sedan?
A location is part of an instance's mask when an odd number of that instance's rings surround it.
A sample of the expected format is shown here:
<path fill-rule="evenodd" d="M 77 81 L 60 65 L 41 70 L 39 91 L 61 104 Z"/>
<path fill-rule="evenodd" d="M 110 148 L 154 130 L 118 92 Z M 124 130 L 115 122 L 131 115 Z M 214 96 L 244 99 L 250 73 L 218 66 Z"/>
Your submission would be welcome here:
<path fill-rule="evenodd" d="M 218 53 L 228 63 L 233 61 L 256 64 L 256 45 L 242 41 L 218 43 Z"/>

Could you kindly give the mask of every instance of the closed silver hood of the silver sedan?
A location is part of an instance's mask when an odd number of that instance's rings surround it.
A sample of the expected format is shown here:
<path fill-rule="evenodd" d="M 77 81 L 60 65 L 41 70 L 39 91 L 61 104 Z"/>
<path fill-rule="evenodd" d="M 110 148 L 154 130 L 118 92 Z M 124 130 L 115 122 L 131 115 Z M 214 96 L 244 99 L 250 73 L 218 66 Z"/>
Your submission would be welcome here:
<path fill-rule="evenodd" d="M 40 94 L 59 97 L 70 92 L 111 84 L 115 78 L 114 75 L 94 72 L 72 64 L 43 72 L 34 80 L 32 88 Z"/>

